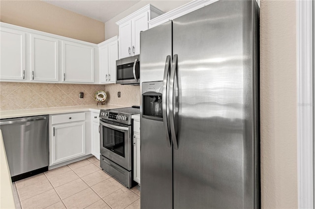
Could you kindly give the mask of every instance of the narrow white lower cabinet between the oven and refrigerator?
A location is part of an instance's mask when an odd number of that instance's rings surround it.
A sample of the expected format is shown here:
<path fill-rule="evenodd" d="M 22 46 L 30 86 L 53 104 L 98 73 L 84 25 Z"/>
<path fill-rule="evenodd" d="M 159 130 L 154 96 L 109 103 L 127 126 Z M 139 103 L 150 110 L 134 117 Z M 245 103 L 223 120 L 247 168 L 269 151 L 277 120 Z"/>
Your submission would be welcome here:
<path fill-rule="evenodd" d="M 133 118 L 133 180 L 140 184 L 140 120 Z"/>

